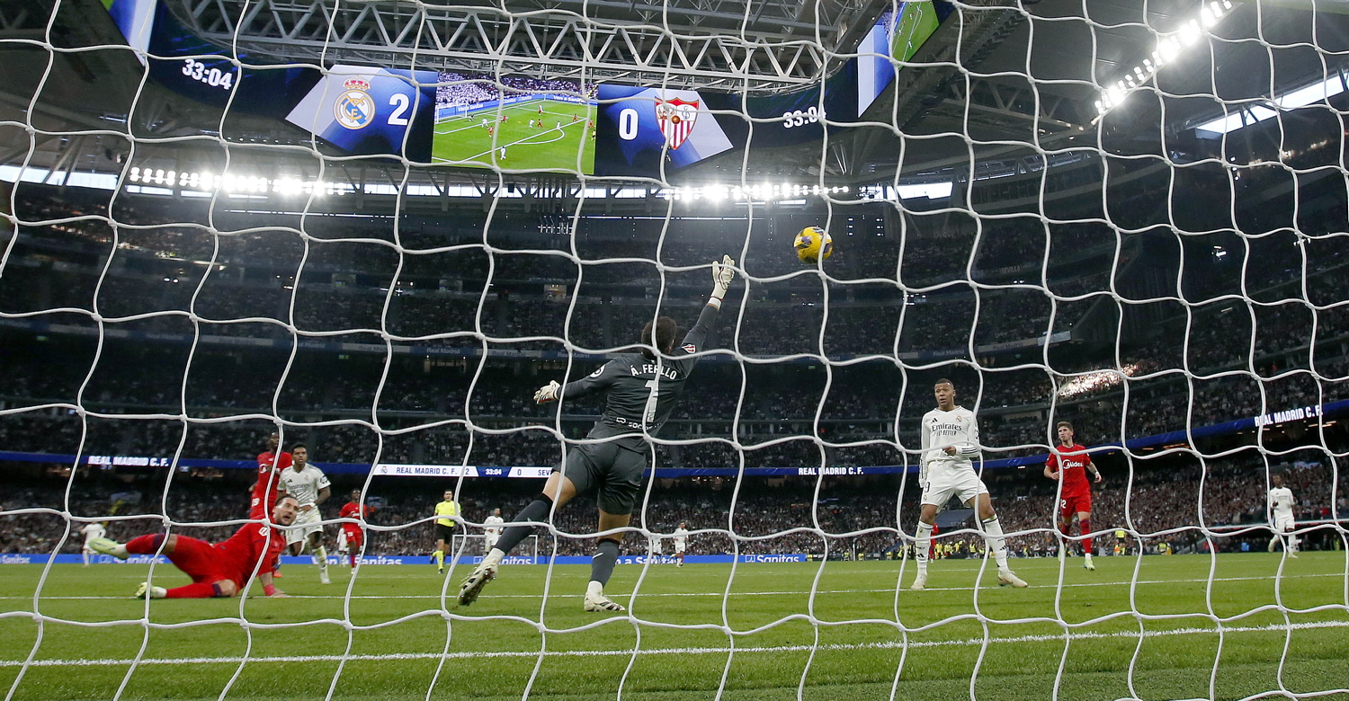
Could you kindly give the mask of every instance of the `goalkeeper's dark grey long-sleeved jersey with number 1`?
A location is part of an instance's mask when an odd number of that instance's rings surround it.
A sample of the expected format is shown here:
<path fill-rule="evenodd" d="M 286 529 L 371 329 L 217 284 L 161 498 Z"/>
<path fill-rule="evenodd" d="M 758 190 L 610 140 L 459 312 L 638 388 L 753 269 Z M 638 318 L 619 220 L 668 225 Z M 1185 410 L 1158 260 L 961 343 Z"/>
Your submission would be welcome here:
<path fill-rule="evenodd" d="M 695 353 L 703 350 L 718 311 L 720 310 L 712 305 L 703 307 L 697 324 L 674 348 L 673 359 L 665 357 L 657 363 L 641 353 L 623 353 L 590 376 L 564 384 L 563 398 L 608 392 L 604 413 L 595 422 L 590 437 L 622 435 L 615 441 L 618 445 L 645 453 L 646 438 L 642 430 L 654 434 L 670 418 L 674 402 L 684 392 L 684 383 L 693 372 L 693 365 L 697 365 L 699 356 Z"/>

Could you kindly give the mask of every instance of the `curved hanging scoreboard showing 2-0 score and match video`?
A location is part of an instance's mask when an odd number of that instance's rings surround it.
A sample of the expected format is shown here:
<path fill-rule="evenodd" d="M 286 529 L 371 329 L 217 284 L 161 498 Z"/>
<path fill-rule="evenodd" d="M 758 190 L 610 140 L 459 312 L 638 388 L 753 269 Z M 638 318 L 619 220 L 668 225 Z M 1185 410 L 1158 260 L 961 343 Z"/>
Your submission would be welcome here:
<path fill-rule="evenodd" d="M 853 127 L 951 5 L 901 3 L 831 74 L 799 90 L 742 96 L 526 75 L 336 65 L 268 66 L 188 30 L 162 0 L 111 0 L 151 77 L 221 109 L 271 116 L 352 155 L 415 163 L 664 178 L 747 147 L 819 140 Z"/>

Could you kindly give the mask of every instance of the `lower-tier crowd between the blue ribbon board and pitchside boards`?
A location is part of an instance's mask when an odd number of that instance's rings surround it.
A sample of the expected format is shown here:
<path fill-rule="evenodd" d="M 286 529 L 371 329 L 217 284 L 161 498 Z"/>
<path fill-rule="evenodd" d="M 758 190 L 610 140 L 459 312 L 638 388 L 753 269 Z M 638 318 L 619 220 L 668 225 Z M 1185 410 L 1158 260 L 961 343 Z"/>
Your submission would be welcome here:
<path fill-rule="evenodd" d="M 1265 461 L 1249 452 L 1225 458 L 1198 458 L 1180 454 L 1136 461 L 1105 461 L 1105 481 L 1094 488 L 1093 530 L 1097 551 L 1113 551 L 1116 530 L 1124 530 L 1129 551 L 1167 542 L 1174 551 L 1242 550 L 1264 546 L 1269 531 L 1265 512 L 1268 476 L 1283 475 L 1292 489 L 1295 516 L 1304 526 L 1344 519 L 1349 510 L 1349 475 L 1318 457 L 1298 457 L 1288 462 Z M 243 472 L 243 470 L 240 470 Z M 1334 492 L 1338 475 L 1338 492 Z M 1027 470 L 1000 470 L 985 476 L 994 495 L 1004 531 L 1013 534 L 1008 545 L 1013 554 L 1052 554 L 1055 532 L 1055 483 Z M 335 476 L 335 497 L 324 507 L 326 518 L 345 501 L 349 488 L 366 488 L 367 500 L 376 506 L 370 523 L 367 554 L 420 555 L 429 551 L 433 534 L 430 519 L 444 484 L 405 477 Z M 522 481 L 522 480 L 521 480 Z M 349 483 L 349 484 L 348 484 Z M 463 506 L 465 526 L 460 532 L 480 532 L 480 524 L 494 508 L 507 516 L 530 499 L 527 484 L 518 480 L 468 480 L 457 484 L 456 500 Z M 69 496 L 66 487 L 69 485 Z M 167 520 L 175 532 L 206 539 L 228 537 L 237 523 L 201 526 L 244 518 L 247 485 L 241 480 L 205 480 L 178 475 L 163 480 L 121 483 L 81 470 L 67 480 L 42 480 L 11 489 L 0 499 L 0 551 L 43 553 L 58 549 L 74 553 L 81 542 L 71 531 L 88 519 L 111 519 L 111 535 L 154 531 Z M 1338 503 L 1336 495 L 1338 493 Z M 648 541 L 631 534 L 625 549 L 630 553 L 669 554 L 669 534 L 680 522 L 693 531 L 691 554 L 805 553 L 843 557 L 894 557 L 912 532 L 917 515 L 916 480 L 884 477 L 746 477 L 691 480 L 658 479 L 643 492 L 634 512 L 633 527 L 653 535 Z M 23 512 L 23 510 L 46 510 Z M 65 514 L 76 520 L 67 522 Z M 131 518 L 151 515 L 154 518 Z M 977 551 L 981 538 L 970 522 L 943 528 L 940 542 L 960 542 L 963 551 Z M 558 510 L 553 520 L 561 532 L 558 554 L 590 554 L 595 532 L 595 503 L 577 497 Z M 335 527 L 329 527 L 335 531 Z M 701 532 L 699 532 L 701 531 Z M 1077 535 L 1077 531 L 1072 532 Z M 1304 535 L 1311 547 L 1333 547 L 1340 537 L 1331 530 Z M 1246 543 L 1242 546 L 1241 543 Z M 553 550 L 554 538 L 540 531 L 540 551 Z M 529 545 L 525 546 L 530 549 Z M 1070 543 L 1070 549 L 1079 547 Z M 468 554 L 479 554 L 480 542 L 471 542 Z M 529 554 L 529 551 L 522 553 Z"/>

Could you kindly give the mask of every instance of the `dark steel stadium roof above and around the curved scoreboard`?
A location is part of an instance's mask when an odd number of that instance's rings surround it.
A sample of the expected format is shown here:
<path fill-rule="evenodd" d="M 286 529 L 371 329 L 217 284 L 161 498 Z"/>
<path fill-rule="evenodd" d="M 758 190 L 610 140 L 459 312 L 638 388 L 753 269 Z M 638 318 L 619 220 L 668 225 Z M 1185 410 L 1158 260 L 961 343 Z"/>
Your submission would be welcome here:
<path fill-rule="evenodd" d="M 548 77 L 580 75 L 584 65 L 588 77 L 600 81 L 765 92 L 819 82 L 892 7 L 876 0 L 674 0 L 668 5 L 513 0 L 505 9 L 482 0 L 167 1 L 204 38 L 278 59 Z M 747 167 L 743 154 L 714 156 L 672 181 L 782 175 L 824 185 L 951 182 L 969 179 L 994 162 L 1013 162 L 1013 169 L 1028 173 L 1043 167 L 1047 151 L 1160 155 L 1163 142 L 1167 148 L 1183 147 L 1193 135 L 1182 132 L 1246 108 L 1242 101 L 1344 70 L 1334 61 L 1349 51 L 1349 15 L 1323 5 L 1317 4 L 1313 13 L 1311 4 L 1300 0 L 1236 3 L 1229 16 L 1206 28 L 1211 42 L 1199 42 L 1178 59 L 1183 65 L 1156 74 L 1102 113 L 1095 102 L 1103 92 L 1128 77 L 1159 38 L 1193 22 L 1207 0 L 966 3 L 913 57 L 924 65 L 901 67 L 896 85 L 862 116 L 870 124 L 831 132 L 824 143 L 757 150 Z M 0 38 L 26 40 L 0 46 L 5 66 L 0 119 L 31 120 L 39 129 L 31 142 L 23 129 L 0 129 L 0 163 L 32 152 L 32 163 L 54 171 L 93 163 L 116 173 L 117 144 L 128 143 L 119 132 L 135 135 L 142 155 L 170 162 L 214 158 L 202 154 L 220 151 L 219 131 L 212 131 L 221 125 L 219 109 L 152 82 L 142 85 L 143 69 L 131 51 L 119 47 L 120 34 L 97 0 L 65 0 L 59 8 L 49 31 L 51 3 L 0 3 Z M 57 51 L 40 46 L 49 39 Z M 1313 40 L 1321 51 L 1306 43 Z M 98 44 L 105 49 L 86 49 Z M 34 100 L 39 80 L 42 94 Z M 244 144 L 309 143 L 277 120 L 232 113 L 228 121 L 231 143 L 240 136 Z M 86 133 L 65 138 L 43 131 Z M 248 158 L 266 171 L 263 162 L 272 152 L 258 150 Z M 113 158 L 100 159 L 109 154 Z M 333 179 L 351 182 L 364 182 L 371 169 L 389 166 L 378 159 L 328 163 Z M 352 169 L 360 173 L 347 173 Z M 414 170 L 417 182 L 482 181 L 484 191 L 498 178 L 461 169 Z M 510 179 L 556 189 L 568 177 L 511 174 Z M 576 187 L 575 178 L 568 182 L 563 189 Z"/>

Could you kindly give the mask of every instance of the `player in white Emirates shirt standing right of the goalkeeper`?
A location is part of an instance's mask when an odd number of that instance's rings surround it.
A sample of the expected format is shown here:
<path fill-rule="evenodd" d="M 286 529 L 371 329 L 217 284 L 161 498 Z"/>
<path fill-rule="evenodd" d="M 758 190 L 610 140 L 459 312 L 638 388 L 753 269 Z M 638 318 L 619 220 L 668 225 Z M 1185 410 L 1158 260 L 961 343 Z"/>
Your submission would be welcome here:
<path fill-rule="evenodd" d="M 989 488 L 974 470 L 974 458 L 979 457 L 979 426 L 974 413 L 955 404 L 955 384 L 940 379 L 932 386 L 936 408 L 923 415 L 923 469 L 919 484 L 923 485 L 923 511 L 915 538 L 915 559 L 919 573 L 911 589 L 927 588 L 928 550 L 932 543 L 932 527 L 936 514 L 955 496 L 962 504 L 975 508 L 979 516 L 979 530 L 989 553 L 998 563 L 1000 586 L 1025 586 L 1025 581 L 1008 568 L 1008 549 L 1002 538 L 1002 524 L 993 511 Z"/>

